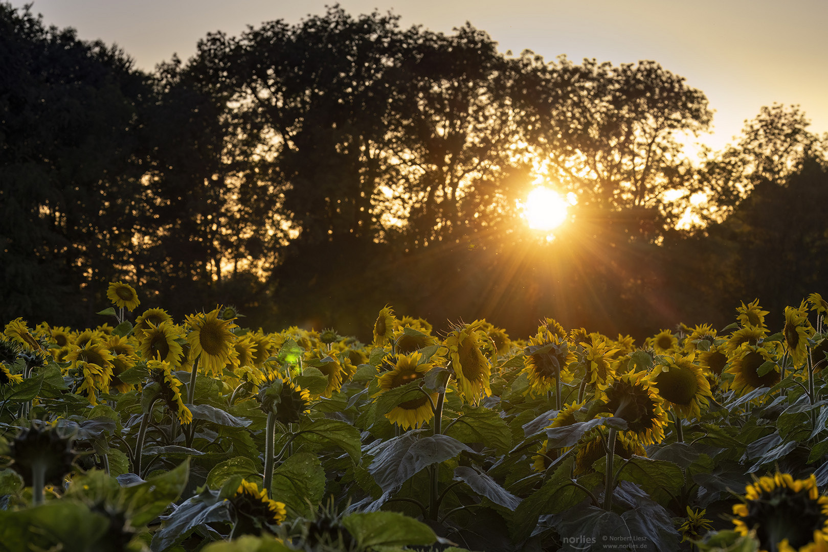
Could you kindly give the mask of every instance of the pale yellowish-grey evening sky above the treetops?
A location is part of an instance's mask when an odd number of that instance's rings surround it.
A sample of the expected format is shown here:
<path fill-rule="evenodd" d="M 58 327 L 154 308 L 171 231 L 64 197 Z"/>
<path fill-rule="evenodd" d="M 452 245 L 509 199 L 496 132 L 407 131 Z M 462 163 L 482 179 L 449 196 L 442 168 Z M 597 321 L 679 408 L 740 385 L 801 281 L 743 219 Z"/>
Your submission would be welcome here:
<path fill-rule="evenodd" d="M 12 6 L 26 2 L 12 0 Z M 195 54 L 208 32 L 238 36 L 248 25 L 298 23 L 328 0 L 34 0 L 47 25 L 71 26 L 83 40 L 121 46 L 152 70 L 176 53 Z M 533 50 L 614 65 L 655 60 L 705 93 L 720 149 L 764 105 L 798 104 L 811 132 L 828 132 L 828 2 L 825 0 L 342 0 L 357 16 L 391 11 L 403 27 L 450 33 L 465 22 L 500 50 Z"/>

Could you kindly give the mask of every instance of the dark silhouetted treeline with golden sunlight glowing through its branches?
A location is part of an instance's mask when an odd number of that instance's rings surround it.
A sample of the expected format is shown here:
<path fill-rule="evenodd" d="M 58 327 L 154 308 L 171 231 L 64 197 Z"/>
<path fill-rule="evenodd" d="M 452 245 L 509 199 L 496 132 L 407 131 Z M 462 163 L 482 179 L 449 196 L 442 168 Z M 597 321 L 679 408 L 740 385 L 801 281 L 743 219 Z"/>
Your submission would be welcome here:
<path fill-rule="evenodd" d="M 140 309 L 230 304 L 269 330 L 367 338 L 391 304 L 641 338 L 826 293 L 828 139 L 774 105 L 691 163 L 707 100 L 652 61 L 332 7 L 146 74 L 0 4 L 0 75 L 3 321 L 99 324 L 123 280 Z M 539 170 L 578 200 L 552 242 L 517 209 Z"/>

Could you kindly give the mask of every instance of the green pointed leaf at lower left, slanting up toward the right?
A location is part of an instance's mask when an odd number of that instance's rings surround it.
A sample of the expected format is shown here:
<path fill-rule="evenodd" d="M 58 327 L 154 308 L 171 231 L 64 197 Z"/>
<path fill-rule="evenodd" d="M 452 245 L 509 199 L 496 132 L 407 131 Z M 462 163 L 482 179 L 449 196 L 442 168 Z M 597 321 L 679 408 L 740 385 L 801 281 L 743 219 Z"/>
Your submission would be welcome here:
<path fill-rule="evenodd" d="M 190 461 L 185 460 L 177 468 L 149 478 L 147 482 L 124 487 L 123 500 L 128 511 L 132 512 L 132 525 L 145 526 L 160 516 L 181 497 L 189 476 Z"/>

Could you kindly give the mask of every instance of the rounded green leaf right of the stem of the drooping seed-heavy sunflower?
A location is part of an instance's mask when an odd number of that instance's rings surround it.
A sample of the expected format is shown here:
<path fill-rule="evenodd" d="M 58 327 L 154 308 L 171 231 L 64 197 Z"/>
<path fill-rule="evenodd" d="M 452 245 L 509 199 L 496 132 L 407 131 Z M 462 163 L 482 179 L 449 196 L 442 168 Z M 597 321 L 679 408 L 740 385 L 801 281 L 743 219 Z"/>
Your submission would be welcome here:
<path fill-rule="evenodd" d="M 311 453 L 288 457 L 273 471 L 271 490 L 273 500 L 284 502 L 297 515 L 310 515 L 325 496 L 325 470 L 319 457 Z"/>

